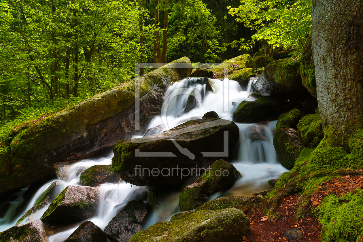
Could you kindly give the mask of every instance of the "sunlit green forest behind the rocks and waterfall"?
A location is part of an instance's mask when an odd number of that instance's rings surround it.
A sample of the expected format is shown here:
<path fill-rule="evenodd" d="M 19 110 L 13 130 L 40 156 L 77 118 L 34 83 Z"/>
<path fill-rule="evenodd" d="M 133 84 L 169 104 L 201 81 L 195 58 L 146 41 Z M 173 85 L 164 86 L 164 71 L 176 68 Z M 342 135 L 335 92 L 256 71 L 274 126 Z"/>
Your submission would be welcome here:
<path fill-rule="evenodd" d="M 130 80 L 135 63 L 298 57 L 310 32 L 310 0 L 3 0 L 0 141 Z"/>

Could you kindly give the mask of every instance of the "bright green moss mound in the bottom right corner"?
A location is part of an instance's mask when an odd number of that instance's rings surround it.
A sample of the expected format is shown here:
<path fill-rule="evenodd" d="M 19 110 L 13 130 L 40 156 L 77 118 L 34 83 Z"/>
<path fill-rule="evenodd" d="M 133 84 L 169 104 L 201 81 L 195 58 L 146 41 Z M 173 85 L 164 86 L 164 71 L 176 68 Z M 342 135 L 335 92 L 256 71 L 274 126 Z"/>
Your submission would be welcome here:
<path fill-rule="evenodd" d="M 315 209 L 324 242 L 356 242 L 363 234 L 363 190 L 343 196 L 331 194 Z"/>

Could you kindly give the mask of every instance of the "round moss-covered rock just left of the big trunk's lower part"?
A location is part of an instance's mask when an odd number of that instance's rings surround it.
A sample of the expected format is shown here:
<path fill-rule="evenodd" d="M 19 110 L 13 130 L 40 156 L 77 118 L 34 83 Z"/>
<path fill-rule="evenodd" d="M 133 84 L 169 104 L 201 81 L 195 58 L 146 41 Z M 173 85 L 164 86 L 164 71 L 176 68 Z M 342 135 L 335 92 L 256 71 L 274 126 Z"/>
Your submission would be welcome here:
<path fill-rule="evenodd" d="M 300 119 L 297 128 L 307 147 L 317 147 L 324 138 L 323 126 L 319 113 L 303 116 Z"/>

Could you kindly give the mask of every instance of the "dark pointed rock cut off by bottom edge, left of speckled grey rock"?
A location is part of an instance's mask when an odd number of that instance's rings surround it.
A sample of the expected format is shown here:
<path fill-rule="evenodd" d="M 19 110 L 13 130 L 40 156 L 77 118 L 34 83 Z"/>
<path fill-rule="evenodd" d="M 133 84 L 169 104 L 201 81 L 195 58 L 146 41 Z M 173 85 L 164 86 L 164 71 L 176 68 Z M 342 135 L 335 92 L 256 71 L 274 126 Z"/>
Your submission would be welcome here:
<path fill-rule="evenodd" d="M 81 223 L 64 242 L 110 242 L 106 234 L 91 221 Z"/>

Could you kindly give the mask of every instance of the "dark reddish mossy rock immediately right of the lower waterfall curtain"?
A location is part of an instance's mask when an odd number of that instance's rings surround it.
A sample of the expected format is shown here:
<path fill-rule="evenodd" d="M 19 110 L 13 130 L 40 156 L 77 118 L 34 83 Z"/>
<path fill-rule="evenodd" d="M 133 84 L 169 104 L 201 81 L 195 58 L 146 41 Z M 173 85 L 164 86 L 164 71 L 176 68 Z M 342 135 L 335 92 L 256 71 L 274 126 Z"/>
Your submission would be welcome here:
<path fill-rule="evenodd" d="M 293 128 L 279 128 L 273 138 L 277 159 L 286 169 L 294 167 L 296 159 L 304 148 L 300 133 Z"/>

